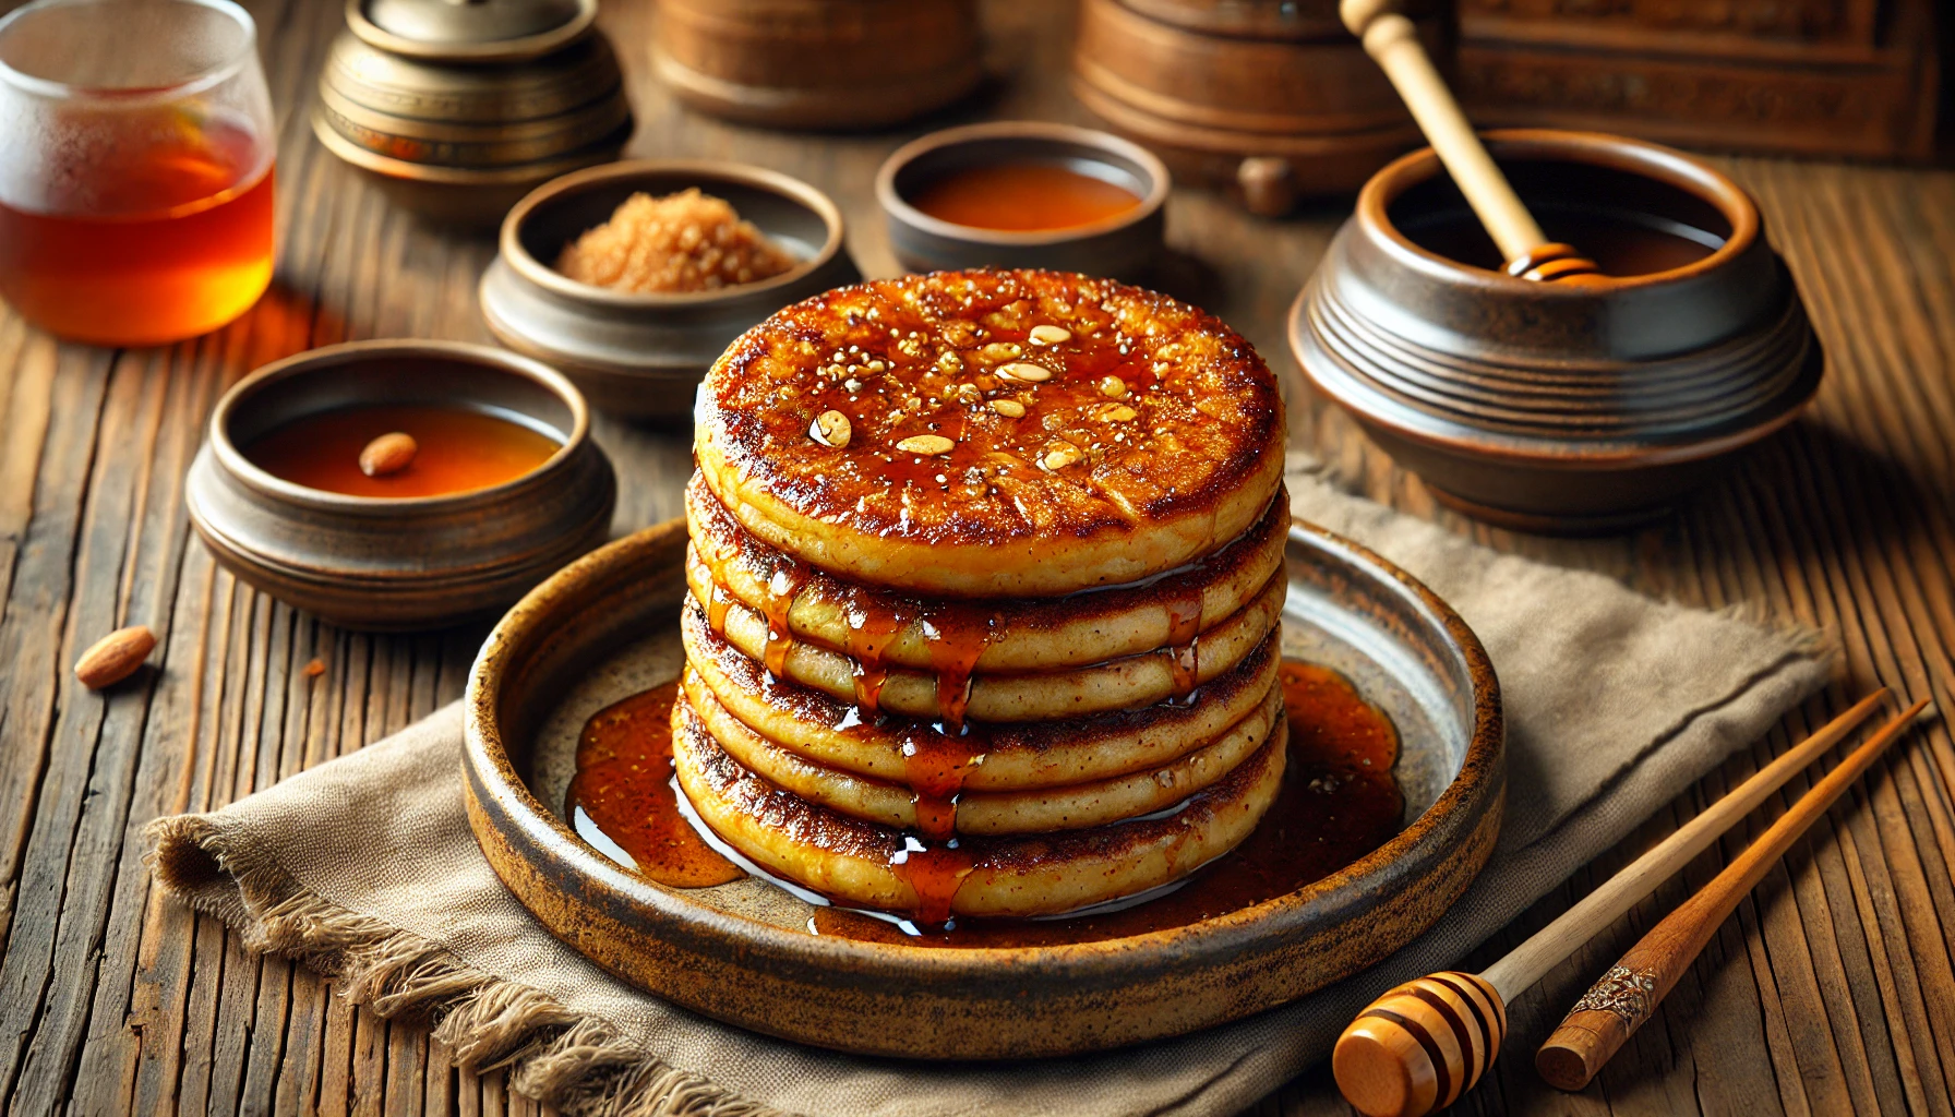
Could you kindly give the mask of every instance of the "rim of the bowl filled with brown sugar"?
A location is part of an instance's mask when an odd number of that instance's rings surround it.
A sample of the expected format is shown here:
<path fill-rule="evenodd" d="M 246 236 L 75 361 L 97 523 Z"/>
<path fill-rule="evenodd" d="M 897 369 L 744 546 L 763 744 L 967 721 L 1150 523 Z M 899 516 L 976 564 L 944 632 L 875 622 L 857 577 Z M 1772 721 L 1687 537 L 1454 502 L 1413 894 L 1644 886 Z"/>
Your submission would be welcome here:
<path fill-rule="evenodd" d="M 579 284 L 577 280 L 565 276 L 563 272 L 543 264 L 522 246 L 522 225 L 543 205 L 563 198 L 571 192 L 581 192 L 594 184 L 608 184 L 612 180 L 628 180 L 639 176 L 678 176 L 678 178 L 698 178 L 696 186 L 712 186 L 714 182 L 735 182 L 739 186 L 753 186 L 759 190 L 772 192 L 788 201 L 794 201 L 821 219 L 827 229 L 827 239 L 813 256 L 802 260 L 794 268 L 770 276 L 755 284 L 739 284 L 733 288 L 719 288 L 714 291 L 678 291 L 678 293 L 628 293 L 614 291 L 610 288 L 598 288 L 594 284 Z M 561 295 L 579 303 L 600 303 L 620 309 L 678 309 L 678 307 L 706 307 L 714 303 L 729 303 L 743 299 L 747 295 L 757 295 L 764 291 L 776 291 L 790 288 L 807 276 L 813 276 L 821 268 L 827 268 L 835 256 L 843 250 L 845 241 L 845 221 L 843 211 L 835 205 L 827 194 L 815 186 L 784 174 L 780 170 L 770 170 L 766 166 L 755 166 L 749 162 L 733 162 L 719 158 L 624 158 L 618 162 L 600 162 L 596 166 L 586 166 L 583 170 L 573 170 L 569 174 L 559 174 L 549 182 L 538 186 L 510 207 L 508 215 L 502 217 L 502 231 L 497 235 L 497 254 L 510 266 L 522 280 L 543 288 L 555 295 Z"/>

